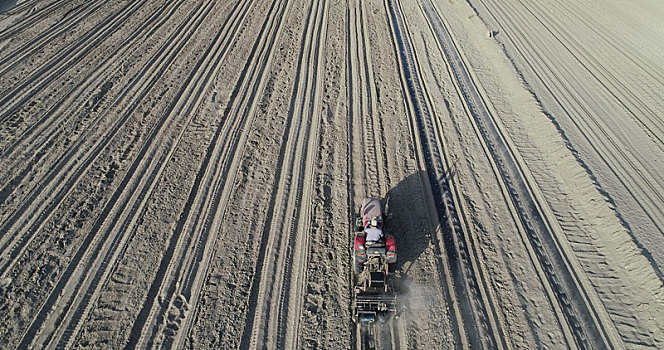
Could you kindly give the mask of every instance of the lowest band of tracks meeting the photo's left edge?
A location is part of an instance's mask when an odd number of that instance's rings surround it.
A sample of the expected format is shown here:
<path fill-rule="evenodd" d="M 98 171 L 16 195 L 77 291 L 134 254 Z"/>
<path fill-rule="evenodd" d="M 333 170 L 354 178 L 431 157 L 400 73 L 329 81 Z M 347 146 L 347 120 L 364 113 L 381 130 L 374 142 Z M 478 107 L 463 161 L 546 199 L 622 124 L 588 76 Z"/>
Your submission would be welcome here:
<path fill-rule="evenodd" d="M 209 8 L 208 8 L 209 11 Z M 75 187 L 85 171 L 97 159 L 102 150 L 115 137 L 126 120 L 175 59 L 178 50 L 184 46 L 192 35 L 191 27 L 200 19 L 202 12 L 192 13 L 189 21 L 183 22 L 170 40 L 167 41 L 135 78 L 121 91 L 115 101 L 104 112 L 100 113 L 95 125 L 100 129 L 90 129 L 81 135 L 76 143 L 64 154 L 44 177 L 39 186 L 35 187 L 19 208 L 0 226 L 6 234 L 0 237 L 0 259 L 2 277 L 11 271 L 10 266 L 27 249 L 34 234 L 53 213 L 64 197 Z M 126 109 L 122 117 L 105 125 L 102 118 L 106 113 L 124 104 Z M 86 144 L 92 141 L 92 144 Z M 10 234 L 11 233 L 11 234 Z"/>

